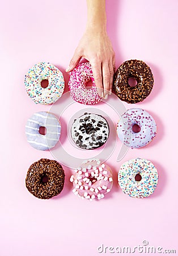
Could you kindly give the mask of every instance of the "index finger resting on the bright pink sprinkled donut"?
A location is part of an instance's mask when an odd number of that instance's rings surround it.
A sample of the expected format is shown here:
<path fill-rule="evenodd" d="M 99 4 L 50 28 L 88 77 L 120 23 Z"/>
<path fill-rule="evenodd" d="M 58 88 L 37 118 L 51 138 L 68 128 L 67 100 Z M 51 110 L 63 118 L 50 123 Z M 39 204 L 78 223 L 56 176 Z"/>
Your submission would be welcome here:
<path fill-rule="evenodd" d="M 98 91 L 99 96 L 103 98 L 101 63 L 100 62 L 91 63 L 91 68 L 94 74 L 96 89 Z"/>

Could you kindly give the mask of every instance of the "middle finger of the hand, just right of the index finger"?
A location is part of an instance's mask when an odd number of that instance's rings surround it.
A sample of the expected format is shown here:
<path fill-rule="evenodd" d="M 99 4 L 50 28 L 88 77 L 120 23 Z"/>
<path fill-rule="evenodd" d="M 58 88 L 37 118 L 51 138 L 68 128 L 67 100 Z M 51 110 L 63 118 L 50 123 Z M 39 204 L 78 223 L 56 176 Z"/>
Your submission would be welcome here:
<path fill-rule="evenodd" d="M 103 88 L 104 88 L 104 98 L 107 100 L 109 93 L 109 85 L 110 85 L 110 72 L 108 61 L 103 63 L 102 65 L 102 75 L 103 75 Z"/>

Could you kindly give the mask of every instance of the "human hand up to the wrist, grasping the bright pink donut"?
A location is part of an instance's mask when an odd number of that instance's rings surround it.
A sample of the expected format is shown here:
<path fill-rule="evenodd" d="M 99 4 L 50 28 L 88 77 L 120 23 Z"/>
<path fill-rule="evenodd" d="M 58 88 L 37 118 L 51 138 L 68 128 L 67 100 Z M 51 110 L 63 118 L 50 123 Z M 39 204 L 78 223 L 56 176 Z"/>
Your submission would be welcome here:
<path fill-rule="evenodd" d="M 106 31 L 87 29 L 66 72 L 72 71 L 84 58 L 91 64 L 98 93 L 105 99 L 112 93 L 113 75 L 115 73 L 115 52 Z"/>

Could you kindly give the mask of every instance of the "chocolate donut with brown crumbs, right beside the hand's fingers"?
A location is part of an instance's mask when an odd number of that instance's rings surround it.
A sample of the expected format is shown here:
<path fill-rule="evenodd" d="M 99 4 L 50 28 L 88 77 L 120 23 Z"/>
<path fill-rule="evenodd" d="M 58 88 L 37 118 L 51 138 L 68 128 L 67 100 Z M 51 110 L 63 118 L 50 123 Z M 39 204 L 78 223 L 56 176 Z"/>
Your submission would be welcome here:
<path fill-rule="evenodd" d="M 129 85 L 129 78 L 137 81 L 136 86 Z M 115 73 L 113 89 L 120 100 L 137 103 L 145 100 L 151 93 L 154 78 L 149 66 L 142 60 L 127 60 Z"/>

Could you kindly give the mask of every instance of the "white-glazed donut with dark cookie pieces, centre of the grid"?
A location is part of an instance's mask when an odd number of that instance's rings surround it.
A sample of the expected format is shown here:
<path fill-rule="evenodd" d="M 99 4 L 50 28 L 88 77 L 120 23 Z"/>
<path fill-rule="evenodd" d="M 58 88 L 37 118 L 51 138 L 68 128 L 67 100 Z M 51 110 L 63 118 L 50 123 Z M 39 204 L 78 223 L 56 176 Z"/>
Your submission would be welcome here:
<path fill-rule="evenodd" d="M 86 150 L 103 146 L 109 137 L 107 120 L 98 114 L 84 113 L 71 126 L 71 138 Z"/>

